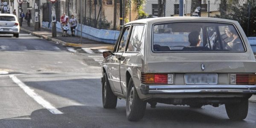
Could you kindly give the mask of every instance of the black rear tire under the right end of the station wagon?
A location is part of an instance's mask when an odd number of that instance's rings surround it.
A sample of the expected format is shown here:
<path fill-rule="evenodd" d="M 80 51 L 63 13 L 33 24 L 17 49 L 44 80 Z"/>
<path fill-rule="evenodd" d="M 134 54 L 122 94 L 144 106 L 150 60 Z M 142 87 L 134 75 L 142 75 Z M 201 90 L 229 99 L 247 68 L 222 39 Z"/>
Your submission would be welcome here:
<path fill-rule="evenodd" d="M 225 104 L 227 116 L 232 120 L 243 120 L 248 113 L 248 99 L 243 99 L 240 103 Z"/>

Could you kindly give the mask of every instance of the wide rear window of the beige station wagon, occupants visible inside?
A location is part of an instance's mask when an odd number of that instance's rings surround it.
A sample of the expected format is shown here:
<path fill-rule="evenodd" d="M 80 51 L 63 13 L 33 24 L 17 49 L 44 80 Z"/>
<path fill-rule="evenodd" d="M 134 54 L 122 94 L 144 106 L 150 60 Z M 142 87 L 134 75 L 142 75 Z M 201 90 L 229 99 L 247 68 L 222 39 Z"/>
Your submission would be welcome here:
<path fill-rule="evenodd" d="M 232 24 L 162 23 L 153 26 L 154 52 L 242 52 L 244 43 Z"/>

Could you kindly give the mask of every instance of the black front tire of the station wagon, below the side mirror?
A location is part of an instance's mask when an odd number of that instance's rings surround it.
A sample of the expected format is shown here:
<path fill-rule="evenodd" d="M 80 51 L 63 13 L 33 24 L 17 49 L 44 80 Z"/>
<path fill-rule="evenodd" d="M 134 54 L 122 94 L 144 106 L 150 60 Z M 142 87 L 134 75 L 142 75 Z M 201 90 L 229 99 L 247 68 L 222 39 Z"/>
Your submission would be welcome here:
<path fill-rule="evenodd" d="M 117 103 L 117 97 L 111 90 L 106 73 L 102 79 L 102 103 L 104 108 L 116 108 Z"/>

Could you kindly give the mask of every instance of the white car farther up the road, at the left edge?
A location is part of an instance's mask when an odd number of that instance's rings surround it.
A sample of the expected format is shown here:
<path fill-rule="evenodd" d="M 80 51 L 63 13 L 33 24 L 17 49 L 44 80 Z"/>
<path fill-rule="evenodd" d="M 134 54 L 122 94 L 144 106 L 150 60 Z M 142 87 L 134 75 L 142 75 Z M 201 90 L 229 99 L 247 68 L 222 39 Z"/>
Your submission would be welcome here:
<path fill-rule="evenodd" d="M 17 17 L 12 14 L 0 14 L 0 34 L 13 34 L 19 37 L 20 25 Z"/>

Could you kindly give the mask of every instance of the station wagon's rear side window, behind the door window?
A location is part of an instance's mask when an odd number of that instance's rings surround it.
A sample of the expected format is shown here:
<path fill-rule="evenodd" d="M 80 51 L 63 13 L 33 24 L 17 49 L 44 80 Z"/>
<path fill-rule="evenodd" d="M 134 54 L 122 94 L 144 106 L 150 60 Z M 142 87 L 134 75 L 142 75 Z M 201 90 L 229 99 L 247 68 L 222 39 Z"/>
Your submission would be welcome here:
<path fill-rule="evenodd" d="M 136 25 L 132 27 L 131 36 L 127 45 L 127 52 L 140 52 L 143 41 L 143 25 Z"/>

